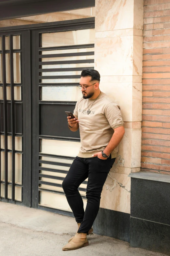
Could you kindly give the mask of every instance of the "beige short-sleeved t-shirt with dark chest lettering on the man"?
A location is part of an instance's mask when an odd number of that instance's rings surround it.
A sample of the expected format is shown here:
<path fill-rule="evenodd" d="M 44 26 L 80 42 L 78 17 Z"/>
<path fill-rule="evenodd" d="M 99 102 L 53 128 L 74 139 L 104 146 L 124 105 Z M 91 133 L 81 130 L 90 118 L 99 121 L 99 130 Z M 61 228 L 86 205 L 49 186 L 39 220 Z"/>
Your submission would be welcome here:
<path fill-rule="evenodd" d="M 123 126 L 120 107 L 111 97 L 101 92 L 94 101 L 89 99 L 90 114 L 87 114 L 88 99 L 83 97 L 78 100 L 74 110 L 80 129 L 78 157 L 89 158 L 93 153 L 103 151 L 114 133 L 113 129 Z M 113 150 L 111 157 L 115 158 L 117 152 L 118 147 Z"/>

